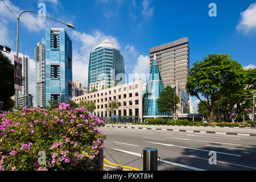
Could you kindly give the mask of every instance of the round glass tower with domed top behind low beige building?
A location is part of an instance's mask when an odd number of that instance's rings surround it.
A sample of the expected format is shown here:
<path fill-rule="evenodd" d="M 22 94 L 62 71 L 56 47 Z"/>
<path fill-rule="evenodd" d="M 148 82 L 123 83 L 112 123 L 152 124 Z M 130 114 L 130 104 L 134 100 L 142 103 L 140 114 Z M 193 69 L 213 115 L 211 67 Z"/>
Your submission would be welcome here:
<path fill-rule="evenodd" d="M 102 81 L 104 81 L 105 84 L 103 85 L 104 88 L 114 86 L 115 81 L 122 81 L 122 84 L 124 84 L 125 79 L 122 80 L 120 77 L 116 79 L 116 76 L 120 73 L 123 74 L 121 77 L 125 78 L 123 56 L 119 49 L 106 39 L 90 52 L 88 92 L 93 88 L 97 89 L 97 86 L 99 86 L 97 90 L 102 89 Z M 95 82 L 101 84 L 94 85 Z"/>

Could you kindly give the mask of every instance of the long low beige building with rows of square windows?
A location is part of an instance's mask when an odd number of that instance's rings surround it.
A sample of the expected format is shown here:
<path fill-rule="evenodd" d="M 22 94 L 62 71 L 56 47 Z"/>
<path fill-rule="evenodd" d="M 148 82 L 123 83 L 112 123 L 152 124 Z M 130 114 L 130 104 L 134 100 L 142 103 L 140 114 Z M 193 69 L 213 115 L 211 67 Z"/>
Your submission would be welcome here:
<path fill-rule="evenodd" d="M 72 101 L 77 104 L 85 100 L 95 103 L 96 109 L 92 114 L 97 115 L 105 122 L 111 122 L 113 115 L 117 115 L 115 122 L 142 121 L 142 80 L 72 98 Z M 114 110 L 114 113 L 106 110 L 108 101 L 112 100 L 118 100 L 120 105 L 117 110 Z"/>

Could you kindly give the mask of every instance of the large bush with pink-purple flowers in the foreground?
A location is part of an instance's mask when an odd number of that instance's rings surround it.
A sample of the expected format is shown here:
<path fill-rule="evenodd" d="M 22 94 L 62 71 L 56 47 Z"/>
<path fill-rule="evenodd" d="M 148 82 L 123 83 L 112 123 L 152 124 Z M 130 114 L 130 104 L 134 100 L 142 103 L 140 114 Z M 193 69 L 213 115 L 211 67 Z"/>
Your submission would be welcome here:
<path fill-rule="evenodd" d="M 64 103 L 51 111 L 23 107 L 0 114 L 0 171 L 97 170 L 106 136 L 94 127 L 102 125 L 85 107 Z"/>

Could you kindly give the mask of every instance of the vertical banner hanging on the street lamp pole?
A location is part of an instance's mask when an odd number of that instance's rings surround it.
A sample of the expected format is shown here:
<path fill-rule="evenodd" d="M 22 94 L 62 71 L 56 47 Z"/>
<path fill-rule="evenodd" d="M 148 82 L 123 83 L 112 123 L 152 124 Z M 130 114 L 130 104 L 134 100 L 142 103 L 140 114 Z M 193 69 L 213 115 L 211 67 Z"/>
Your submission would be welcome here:
<path fill-rule="evenodd" d="M 22 91 L 22 59 L 14 55 L 14 89 Z"/>

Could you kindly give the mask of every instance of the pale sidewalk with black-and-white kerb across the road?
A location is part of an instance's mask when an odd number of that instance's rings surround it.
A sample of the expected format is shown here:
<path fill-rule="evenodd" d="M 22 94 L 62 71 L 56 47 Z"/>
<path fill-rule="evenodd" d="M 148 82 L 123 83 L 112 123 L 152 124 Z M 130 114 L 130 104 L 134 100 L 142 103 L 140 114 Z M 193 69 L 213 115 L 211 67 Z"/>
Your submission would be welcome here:
<path fill-rule="evenodd" d="M 106 124 L 105 127 L 112 127 Z M 195 133 L 213 133 L 226 135 L 256 136 L 255 127 L 211 127 L 211 126 L 164 126 L 164 125 L 133 125 L 133 124 L 113 124 L 113 127 L 144 129 L 144 130 L 165 130 L 165 131 L 185 131 Z"/>

